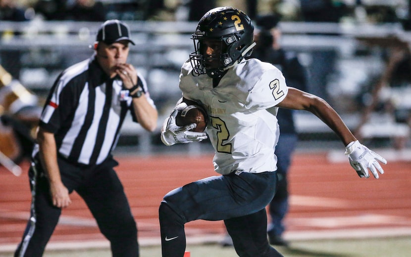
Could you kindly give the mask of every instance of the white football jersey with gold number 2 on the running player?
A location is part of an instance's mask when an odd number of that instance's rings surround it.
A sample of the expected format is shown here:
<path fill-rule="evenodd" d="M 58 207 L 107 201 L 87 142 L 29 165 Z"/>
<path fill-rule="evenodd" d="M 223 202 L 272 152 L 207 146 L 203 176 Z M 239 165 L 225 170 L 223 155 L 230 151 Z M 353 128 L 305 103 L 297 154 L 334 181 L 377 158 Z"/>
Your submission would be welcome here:
<path fill-rule="evenodd" d="M 279 129 L 274 107 L 288 92 L 281 71 L 257 59 L 230 68 L 218 86 L 207 75 L 193 76 L 190 61 L 180 74 L 183 96 L 208 114 L 206 132 L 215 150 L 216 172 L 277 170 Z"/>

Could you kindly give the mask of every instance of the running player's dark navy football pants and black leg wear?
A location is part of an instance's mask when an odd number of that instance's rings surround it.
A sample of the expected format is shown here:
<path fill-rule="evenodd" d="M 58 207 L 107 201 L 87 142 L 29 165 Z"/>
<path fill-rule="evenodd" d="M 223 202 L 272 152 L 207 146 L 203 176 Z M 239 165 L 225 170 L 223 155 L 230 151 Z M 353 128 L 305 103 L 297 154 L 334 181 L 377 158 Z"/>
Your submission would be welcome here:
<path fill-rule="evenodd" d="M 183 257 L 184 224 L 205 219 L 224 220 L 240 257 L 281 257 L 268 244 L 265 212 L 277 183 L 275 171 L 233 172 L 170 191 L 159 208 L 162 256 Z"/>

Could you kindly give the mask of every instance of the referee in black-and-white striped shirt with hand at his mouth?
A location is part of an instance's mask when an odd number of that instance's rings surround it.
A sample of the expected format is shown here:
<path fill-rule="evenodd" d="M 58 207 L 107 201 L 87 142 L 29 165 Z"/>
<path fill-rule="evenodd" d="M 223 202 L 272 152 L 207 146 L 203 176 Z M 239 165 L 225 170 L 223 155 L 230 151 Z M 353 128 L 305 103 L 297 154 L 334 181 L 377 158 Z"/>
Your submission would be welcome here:
<path fill-rule="evenodd" d="M 86 202 L 113 257 L 137 257 L 137 226 L 112 158 L 125 115 L 149 131 L 157 110 L 145 80 L 127 63 L 128 26 L 108 20 L 90 59 L 63 71 L 44 106 L 29 170 L 30 218 L 15 256 L 42 256 L 75 190 Z"/>

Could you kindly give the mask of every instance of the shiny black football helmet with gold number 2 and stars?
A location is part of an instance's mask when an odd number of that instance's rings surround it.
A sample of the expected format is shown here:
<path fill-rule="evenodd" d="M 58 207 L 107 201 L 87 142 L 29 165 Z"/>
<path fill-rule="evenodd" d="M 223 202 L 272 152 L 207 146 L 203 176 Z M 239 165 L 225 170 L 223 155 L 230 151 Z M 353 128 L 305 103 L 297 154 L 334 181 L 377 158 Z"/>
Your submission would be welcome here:
<path fill-rule="evenodd" d="M 253 41 L 254 26 L 250 17 L 243 11 L 232 7 L 217 7 L 209 10 L 200 19 L 196 32 L 192 34 L 195 51 L 190 54 L 193 72 L 197 75 L 207 74 L 216 78 L 225 70 L 251 55 L 255 46 Z M 217 54 L 206 55 L 202 41 L 219 40 L 223 49 Z M 206 68 L 206 60 L 219 60 L 218 68 Z"/>

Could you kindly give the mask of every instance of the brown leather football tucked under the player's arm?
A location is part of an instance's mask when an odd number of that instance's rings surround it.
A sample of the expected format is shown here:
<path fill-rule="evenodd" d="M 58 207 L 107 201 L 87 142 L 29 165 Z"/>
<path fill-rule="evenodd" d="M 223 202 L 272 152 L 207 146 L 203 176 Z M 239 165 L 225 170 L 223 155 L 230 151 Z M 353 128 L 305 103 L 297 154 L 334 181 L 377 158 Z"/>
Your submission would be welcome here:
<path fill-rule="evenodd" d="M 206 114 L 203 108 L 196 104 L 180 103 L 177 105 L 177 116 L 175 123 L 177 126 L 186 126 L 192 123 L 197 124 L 197 127 L 190 129 L 194 132 L 203 132 L 207 127 Z"/>

